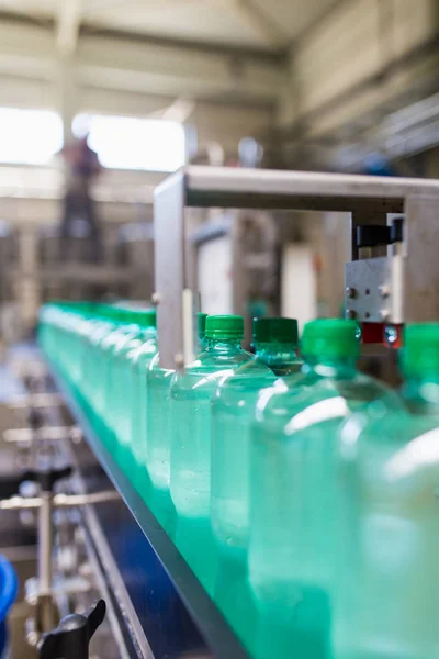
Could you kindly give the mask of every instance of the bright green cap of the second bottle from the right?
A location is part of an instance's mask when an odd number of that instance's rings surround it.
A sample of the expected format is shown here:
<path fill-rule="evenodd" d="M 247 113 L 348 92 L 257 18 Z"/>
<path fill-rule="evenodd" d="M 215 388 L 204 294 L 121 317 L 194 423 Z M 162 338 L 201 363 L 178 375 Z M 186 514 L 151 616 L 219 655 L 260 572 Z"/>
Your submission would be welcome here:
<path fill-rule="evenodd" d="M 323 319 L 306 323 L 301 342 L 302 355 L 325 359 L 357 358 L 360 354 L 356 321 Z"/>

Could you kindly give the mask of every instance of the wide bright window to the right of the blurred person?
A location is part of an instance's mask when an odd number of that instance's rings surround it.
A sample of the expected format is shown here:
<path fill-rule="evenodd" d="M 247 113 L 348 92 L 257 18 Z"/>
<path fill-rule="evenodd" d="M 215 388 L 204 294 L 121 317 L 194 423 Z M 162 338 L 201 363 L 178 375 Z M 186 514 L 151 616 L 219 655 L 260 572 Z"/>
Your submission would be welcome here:
<path fill-rule="evenodd" d="M 78 114 L 72 129 L 77 137 L 88 131 L 104 167 L 175 171 L 184 165 L 184 129 L 173 121 Z"/>

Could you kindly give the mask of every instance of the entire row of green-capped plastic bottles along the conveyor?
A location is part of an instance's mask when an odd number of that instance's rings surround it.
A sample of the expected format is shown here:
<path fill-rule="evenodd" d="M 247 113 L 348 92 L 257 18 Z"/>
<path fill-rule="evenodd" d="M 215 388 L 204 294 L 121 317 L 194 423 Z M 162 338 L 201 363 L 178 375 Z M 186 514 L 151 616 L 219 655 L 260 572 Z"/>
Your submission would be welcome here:
<path fill-rule="evenodd" d="M 353 321 L 199 314 L 160 367 L 155 311 L 50 304 L 40 340 L 257 659 L 434 659 L 439 325 L 405 331 L 397 393 Z M 303 361 L 302 361 L 303 360 Z M 438 444 L 439 446 L 439 444 Z"/>

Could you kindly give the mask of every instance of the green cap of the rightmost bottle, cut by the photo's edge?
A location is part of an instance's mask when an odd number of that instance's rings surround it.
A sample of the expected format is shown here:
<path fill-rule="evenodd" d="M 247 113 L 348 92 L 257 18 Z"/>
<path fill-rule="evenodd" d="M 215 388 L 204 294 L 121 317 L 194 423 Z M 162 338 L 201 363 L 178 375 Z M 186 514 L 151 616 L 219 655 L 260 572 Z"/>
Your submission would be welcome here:
<path fill-rule="evenodd" d="M 406 377 L 439 375 L 439 323 L 405 327 L 402 368 Z"/>

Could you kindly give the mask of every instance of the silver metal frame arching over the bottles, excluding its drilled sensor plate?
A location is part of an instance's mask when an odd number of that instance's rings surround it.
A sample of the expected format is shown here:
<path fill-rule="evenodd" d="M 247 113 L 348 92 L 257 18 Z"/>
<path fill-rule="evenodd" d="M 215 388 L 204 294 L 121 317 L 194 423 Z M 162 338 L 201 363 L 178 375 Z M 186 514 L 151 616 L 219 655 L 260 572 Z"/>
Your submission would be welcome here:
<path fill-rule="evenodd" d="M 407 273 L 404 275 L 404 306 L 408 314 L 404 320 L 430 320 L 434 313 L 438 316 L 439 295 L 434 289 L 438 290 L 439 259 L 435 256 L 432 266 L 427 260 L 427 268 L 420 249 L 425 239 L 431 239 L 436 236 L 435 232 L 439 232 L 439 225 L 436 230 L 432 223 L 439 206 L 438 181 L 346 174 L 187 167 L 169 177 L 155 191 L 158 343 L 162 368 L 181 368 L 181 357 L 187 364 L 192 353 L 188 350 L 188 345 L 194 345 L 193 336 L 188 333 L 195 324 L 185 319 L 188 305 L 183 303 L 183 291 L 191 290 L 185 263 L 184 225 L 184 209 L 189 206 L 347 211 L 352 213 L 353 226 L 364 219 L 373 222 L 380 219 L 380 222 L 385 223 L 387 214 L 405 213 L 408 221 L 406 270 L 412 279 L 407 283 Z M 437 241 L 435 244 L 438 244 Z M 428 245 L 428 249 L 434 249 L 432 243 Z M 352 258 L 356 258 L 356 254 Z M 417 272 L 416 264 L 419 266 Z M 430 267 L 435 268 L 432 282 Z M 188 300 L 188 295 L 184 299 Z M 192 290 L 192 299 L 196 305 L 196 291 Z M 193 312 L 195 311 L 194 309 Z"/>

